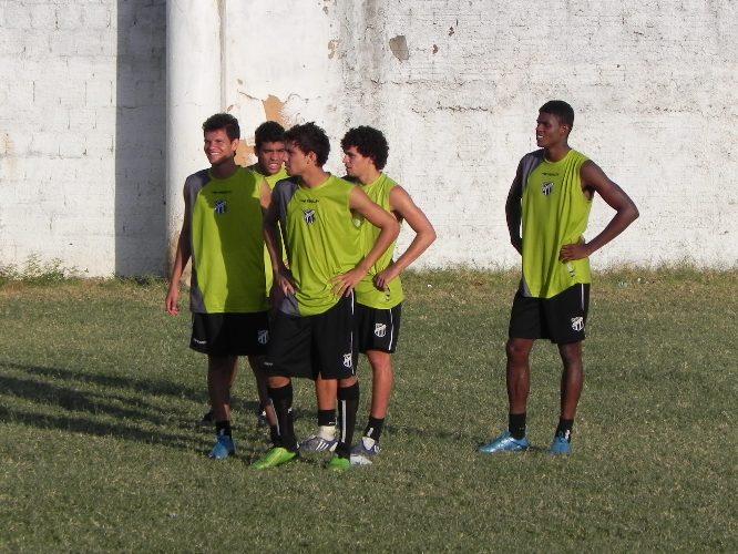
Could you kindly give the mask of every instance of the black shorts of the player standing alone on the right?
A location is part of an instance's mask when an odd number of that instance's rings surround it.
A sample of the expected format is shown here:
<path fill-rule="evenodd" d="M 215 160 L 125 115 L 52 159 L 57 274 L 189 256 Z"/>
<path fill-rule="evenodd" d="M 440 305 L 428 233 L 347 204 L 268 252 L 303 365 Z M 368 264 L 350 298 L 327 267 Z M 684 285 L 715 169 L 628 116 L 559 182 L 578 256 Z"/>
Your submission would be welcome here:
<path fill-rule="evenodd" d="M 556 345 L 584 340 L 590 285 L 574 285 L 552 298 L 515 294 L 510 314 L 511 339 L 550 339 Z"/>

